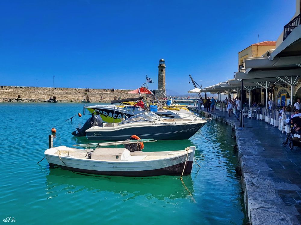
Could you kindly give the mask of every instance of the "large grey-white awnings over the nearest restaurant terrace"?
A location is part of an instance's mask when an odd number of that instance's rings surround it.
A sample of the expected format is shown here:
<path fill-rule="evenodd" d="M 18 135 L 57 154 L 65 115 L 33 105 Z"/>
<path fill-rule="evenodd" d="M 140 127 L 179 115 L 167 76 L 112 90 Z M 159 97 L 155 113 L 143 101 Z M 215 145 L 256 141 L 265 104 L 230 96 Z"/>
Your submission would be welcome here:
<path fill-rule="evenodd" d="M 293 103 L 295 85 L 301 81 L 301 26 L 296 27 L 271 55 L 245 58 L 245 71 L 237 72 L 235 79 L 253 82 L 262 88 L 278 82 L 290 85 Z"/>

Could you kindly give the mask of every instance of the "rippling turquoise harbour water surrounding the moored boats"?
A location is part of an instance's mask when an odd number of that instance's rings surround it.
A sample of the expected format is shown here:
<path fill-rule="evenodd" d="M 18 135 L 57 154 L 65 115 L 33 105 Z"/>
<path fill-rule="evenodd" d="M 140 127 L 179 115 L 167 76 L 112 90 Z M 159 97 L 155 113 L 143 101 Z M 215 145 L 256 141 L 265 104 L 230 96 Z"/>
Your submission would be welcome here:
<path fill-rule="evenodd" d="M 79 103 L 1 103 L 0 219 L 16 224 L 244 224 L 241 186 L 234 168 L 231 127 L 208 122 L 190 140 L 145 143 L 145 151 L 196 146 L 185 186 L 174 176 L 82 176 L 49 169 L 43 160 L 51 128 L 54 146 L 87 143 L 71 132 L 86 116 Z M 201 135 L 203 134 L 206 139 Z M 60 144 L 61 142 L 61 144 Z"/>

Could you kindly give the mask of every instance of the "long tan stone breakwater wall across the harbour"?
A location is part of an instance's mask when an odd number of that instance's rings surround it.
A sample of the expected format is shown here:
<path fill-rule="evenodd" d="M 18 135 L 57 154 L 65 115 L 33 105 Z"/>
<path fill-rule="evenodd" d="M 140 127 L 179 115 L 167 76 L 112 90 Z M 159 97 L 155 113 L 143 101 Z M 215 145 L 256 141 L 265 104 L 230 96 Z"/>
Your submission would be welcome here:
<path fill-rule="evenodd" d="M 138 94 L 128 93 L 130 89 L 85 89 L 85 88 L 43 88 L 0 86 L 0 102 L 39 102 L 55 96 L 58 102 L 110 102 L 118 98 L 136 98 Z"/>

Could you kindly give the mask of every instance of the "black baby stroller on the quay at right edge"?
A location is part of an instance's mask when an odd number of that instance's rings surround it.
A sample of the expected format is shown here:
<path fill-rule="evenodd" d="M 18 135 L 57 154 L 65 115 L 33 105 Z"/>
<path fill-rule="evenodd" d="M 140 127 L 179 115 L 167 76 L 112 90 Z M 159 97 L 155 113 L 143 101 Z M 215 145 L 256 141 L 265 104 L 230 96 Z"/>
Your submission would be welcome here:
<path fill-rule="evenodd" d="M 292 150 L 294 146 L 301 147 L 301 139 L 293 137 L 294 134 L 301 135 L 301 129 L 296 131 L 298 128 L 301 128 L 301 117 L 291 118 L 288 124 L 290 125 L 290 133 L 287 135 L 286 141 L 282 143 L 282 146 L 285 147 L 288 144 L 290 150 Z M 294 124 L 296 124 L 296 126 L 294 126 Z"/>

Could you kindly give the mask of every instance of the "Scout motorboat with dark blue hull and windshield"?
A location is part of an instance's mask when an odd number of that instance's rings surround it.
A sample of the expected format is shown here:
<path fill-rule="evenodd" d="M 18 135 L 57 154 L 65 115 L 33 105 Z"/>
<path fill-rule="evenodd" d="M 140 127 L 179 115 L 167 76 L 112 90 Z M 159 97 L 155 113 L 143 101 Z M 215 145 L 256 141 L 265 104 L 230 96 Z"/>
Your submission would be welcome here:
<path fill-rule="evenodd" d="M 182 140 L 192 137 L 206 122 L 197 116 L 193 119 L 164 119 L 153 112 L 144 112 L 120 123 L 93 126 L 85 134 L 88 140 L 126 140 L 129 135 L 154 140 Z"/>

